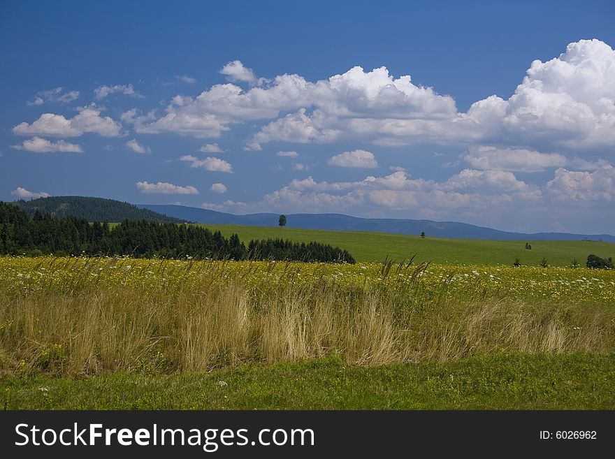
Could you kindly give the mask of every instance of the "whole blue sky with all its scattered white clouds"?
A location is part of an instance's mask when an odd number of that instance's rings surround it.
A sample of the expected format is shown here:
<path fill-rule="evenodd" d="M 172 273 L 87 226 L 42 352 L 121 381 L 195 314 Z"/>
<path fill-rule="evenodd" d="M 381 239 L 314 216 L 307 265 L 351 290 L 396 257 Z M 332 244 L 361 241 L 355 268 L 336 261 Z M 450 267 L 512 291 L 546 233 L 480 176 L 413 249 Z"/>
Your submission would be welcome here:
<path fill-rule="evenodd" d="M 3 1 L 0 199 L 614 233 L 614 21 L 612 1 Z"/>

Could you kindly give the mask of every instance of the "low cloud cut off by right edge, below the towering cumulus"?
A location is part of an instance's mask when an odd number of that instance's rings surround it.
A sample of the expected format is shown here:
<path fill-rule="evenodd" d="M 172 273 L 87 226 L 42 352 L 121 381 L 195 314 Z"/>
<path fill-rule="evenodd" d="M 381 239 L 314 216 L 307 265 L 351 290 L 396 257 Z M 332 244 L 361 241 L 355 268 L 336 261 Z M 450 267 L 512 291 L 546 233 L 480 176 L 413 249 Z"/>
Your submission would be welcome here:
<path fill-rule="evenodd" d="M 610 164 L 593 172 L 566 170 L 555 171 L 553 180 L 547 182 L 547 193 L 555 201 L 613 201 L 615 199 L 615 168 Z"/>

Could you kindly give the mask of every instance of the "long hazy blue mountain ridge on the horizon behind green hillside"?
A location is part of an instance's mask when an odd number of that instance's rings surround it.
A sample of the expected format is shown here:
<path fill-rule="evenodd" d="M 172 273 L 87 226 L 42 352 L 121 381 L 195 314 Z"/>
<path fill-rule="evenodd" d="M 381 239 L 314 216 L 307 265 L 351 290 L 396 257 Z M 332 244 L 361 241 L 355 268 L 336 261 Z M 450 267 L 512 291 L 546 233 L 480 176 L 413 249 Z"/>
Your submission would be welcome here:
<path fill-rule="evenodd" d="M 224 224 L 245 226 L 277 226 L 279 214 L 259 213 L 234 215 L 215 210 L 183 205 L 138 204 L 143 209 L 153 210 L 178 219 L 201 224 Z M 512 233 L 484 226 L 458 223 L 456 221 L 432 221 L 411 219 L 366 219 L 344 214 L 286 214 L 287 227 L 324 229 L 336 231 L 375 231 L 419 235 L 425 232 L 437 238 L 486 239 L 486 240 L 602 240 L 615 243 L 609 234 L 571 233 Z"/>

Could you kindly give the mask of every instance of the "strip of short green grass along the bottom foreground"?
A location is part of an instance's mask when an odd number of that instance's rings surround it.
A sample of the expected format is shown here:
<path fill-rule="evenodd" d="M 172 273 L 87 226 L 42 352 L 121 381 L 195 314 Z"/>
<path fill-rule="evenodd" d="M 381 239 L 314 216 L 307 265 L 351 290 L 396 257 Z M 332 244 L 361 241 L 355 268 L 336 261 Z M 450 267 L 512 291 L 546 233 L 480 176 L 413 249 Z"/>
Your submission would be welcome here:
<path fill-rule="evenodd" d="M 211 372 L 7 377 L 4 409 L 614 409 L 615 354 L 498 354 L 347 365 L 340 358 Z"/>

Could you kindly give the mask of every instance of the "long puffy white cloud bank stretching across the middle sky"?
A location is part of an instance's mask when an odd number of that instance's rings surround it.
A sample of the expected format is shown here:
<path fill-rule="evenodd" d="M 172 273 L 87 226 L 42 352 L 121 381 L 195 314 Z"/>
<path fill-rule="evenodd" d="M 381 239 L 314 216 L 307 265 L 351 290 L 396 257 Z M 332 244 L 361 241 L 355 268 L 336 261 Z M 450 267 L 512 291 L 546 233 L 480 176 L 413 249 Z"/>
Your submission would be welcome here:
<path fill-rule="evenodd" d="M 265 84 L 239 61 L 224 67 L 231 80 L 250 82 L 244 91 L 238 85 L 214 85 L 194 99 L 175 96 L 166 115 L 149 119 L 133 117 L 144 133 L 173 131 L 184 135 L 217 137 L 229 124 L 250 119 L 272 119 L 281 112 L 294 111 L 280 123 L 266 127 L 249 141 L 259 150 L 260 143 L 289 139 L 298 142 L 328 142 L 339 129 L 331 122 L 348 124 L 352 119 L 447 119 L 456 113 L 454 100 L 433 89 L 414 85 L 410 76 L 393 78 L 385 67 L 363 71 L 354 67 L 328 80 L 308 82 L 300 75 L 278 75 Z M 261 86 L 257 86 L 261 84 Z M 307 110 L 313 109 L 307 113 Z M 147 115 L 145 115 L 147 116 Z M 340 126 L 344 127 L 344 126 Z M 353 129 L 353 126 L 345 126 Z M 361 129 L 361 126 L 356 126 Z M 424 126 L 417 126 L 417 131 Z M 298 134 L 298 136 L 297 136 Z M 296 136 L 293 138 L 292 136 Z"/>

